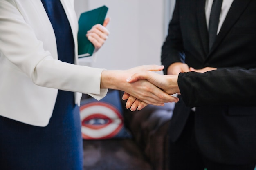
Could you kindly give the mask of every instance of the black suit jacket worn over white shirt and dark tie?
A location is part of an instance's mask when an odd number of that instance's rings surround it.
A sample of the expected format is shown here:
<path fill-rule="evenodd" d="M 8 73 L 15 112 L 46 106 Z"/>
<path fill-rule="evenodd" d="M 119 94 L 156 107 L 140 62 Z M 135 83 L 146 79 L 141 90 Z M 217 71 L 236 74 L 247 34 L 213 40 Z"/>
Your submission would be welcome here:
<path fill-rule="evenodd" d="M 204 156 L 220 163 L 256 162 L 256 84 L 243 79 L 247 69 L 256 68 L 256 1 L 234 0 L 210 50 L 204 7 L 205 0 L 176 0 L 162 46 L 165 74 L 170 64 L 181 61 L 196 69 L 218 68 L 208 80 L 180 75 L 187 79 L 179 77 L 182 97 L 175 106 L 170 139 L 178 139 L 191 107 L 197 106 L 195 135 Z M 240 81 L 225 77 L 236 76 L 230 69 L 238 68 L 235 72 Z M 245 87 L 247 93 L 239 91 Z M 226 89 L 216 93 L 211 88 Z M 234 94 L 229 94 L 231 89 Z"/>

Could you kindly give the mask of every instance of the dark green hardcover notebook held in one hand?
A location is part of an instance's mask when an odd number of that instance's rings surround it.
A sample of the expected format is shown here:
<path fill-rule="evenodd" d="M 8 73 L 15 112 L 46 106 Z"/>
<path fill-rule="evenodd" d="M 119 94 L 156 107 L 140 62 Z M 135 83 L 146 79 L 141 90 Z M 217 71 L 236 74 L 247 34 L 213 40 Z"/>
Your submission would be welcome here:
<path fill-rule="evenodd" d="M 103 24 L 106 14 L 108 11 L 108 7 L 105 5 L 99 7 L 97 9 L 92 9 L 80 15 L 78 25 L 78 57 L 89 57 L 92 55 L 94 51 L 93 44 L 86 37 L 86 33 L 88 30 L 92 28 L 92 26 L 96 24 Z"/>

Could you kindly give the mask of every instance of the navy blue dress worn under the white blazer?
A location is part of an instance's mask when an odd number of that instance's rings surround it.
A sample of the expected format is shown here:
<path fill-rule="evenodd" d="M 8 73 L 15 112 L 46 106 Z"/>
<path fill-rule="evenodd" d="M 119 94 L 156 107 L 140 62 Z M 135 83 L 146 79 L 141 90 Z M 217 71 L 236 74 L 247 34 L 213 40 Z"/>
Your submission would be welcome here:
<path fill-rule="evenodd" d="M 73 64 L 74 40 L 61 2 L 41 1 L 54 28 L 59 60 Z M 0 117 L 1 170 L 82 170 L 82 147 L 79 107 L 74 104 L 73 92 L 58 91 L 46 127 Z"/>

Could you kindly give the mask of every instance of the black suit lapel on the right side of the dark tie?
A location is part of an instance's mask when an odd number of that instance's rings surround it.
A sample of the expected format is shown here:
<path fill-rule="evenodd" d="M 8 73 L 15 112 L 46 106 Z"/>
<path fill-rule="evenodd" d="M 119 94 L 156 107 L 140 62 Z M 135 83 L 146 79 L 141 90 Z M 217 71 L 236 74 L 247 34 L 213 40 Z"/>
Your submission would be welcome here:
<path fill-rule="evenodd" d="M 238 20 L 250 1 L 251 0 L 234 0 L 222 24 L 220 32 L 216 37 L 215 42 L 213 43 L 211 51 L 209 51 L 209 55 L 216 49 L 223 38 L 225 38 L 229 30 L 232 28 L 232 26 L 234 26 L 235 22 Z"/>

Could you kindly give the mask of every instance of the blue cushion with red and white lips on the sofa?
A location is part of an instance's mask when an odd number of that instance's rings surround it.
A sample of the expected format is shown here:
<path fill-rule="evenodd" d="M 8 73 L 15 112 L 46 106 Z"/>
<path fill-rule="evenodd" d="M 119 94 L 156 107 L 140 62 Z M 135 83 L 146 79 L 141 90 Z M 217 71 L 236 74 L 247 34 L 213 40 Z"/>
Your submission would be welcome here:
<path fill-rule="evenodd" d="M 131 138 L 124 126 L 123 108 L 119 91 L 108 91 L 100 101 L 81 100 L 80 116 L 83 139 Z"/>

